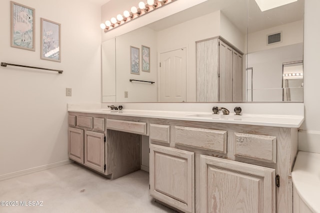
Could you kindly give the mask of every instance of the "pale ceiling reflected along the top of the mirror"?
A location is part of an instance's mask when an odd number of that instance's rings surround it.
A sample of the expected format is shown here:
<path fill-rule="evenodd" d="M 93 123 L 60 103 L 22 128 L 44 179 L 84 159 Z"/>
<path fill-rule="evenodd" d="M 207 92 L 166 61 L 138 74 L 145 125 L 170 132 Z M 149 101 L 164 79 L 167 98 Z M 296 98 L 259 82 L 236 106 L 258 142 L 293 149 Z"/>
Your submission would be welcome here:
<path fill-rule="evenodd" d="M 148 27 L 154 30 L 162 30 L 217 10 L 221 10 L 221 12 L 243 33 L 250 33 L 302 20 L 303 0 L 298 0 L 263 12 L 261 12 L 255 0 L 207 0 L 196 6 L 151 23 Z M 247 11 L 249 11 L 249 15 L 247 14 Z"/>

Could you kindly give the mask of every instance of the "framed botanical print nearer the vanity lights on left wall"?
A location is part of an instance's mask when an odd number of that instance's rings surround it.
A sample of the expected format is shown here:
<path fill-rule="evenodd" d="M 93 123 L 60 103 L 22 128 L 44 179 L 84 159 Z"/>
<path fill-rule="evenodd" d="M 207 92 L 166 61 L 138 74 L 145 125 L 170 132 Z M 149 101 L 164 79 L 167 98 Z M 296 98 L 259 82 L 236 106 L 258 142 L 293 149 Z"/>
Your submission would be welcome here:
<path fill-rule="evenodd" d="M 61 24 L 41 18 L 41 59 L 61 62 Z"/>

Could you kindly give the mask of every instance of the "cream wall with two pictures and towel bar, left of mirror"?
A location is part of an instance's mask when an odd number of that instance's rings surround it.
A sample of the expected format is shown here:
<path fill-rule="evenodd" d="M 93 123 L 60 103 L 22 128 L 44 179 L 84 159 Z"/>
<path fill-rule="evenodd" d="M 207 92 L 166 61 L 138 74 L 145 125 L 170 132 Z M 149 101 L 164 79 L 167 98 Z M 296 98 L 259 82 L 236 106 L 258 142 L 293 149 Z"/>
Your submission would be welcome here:
<path fill-rule="evenodd" d="M 35 9 L 35 51 L 10 47 L 10 0 L 0 1 L 0 176 L 68 160 L 67 103 L 101 100 L 100 6 L 78 0 L 15 0 Z M 61 62 L 40 59 L 40 17 L 61 23 Z M 65 88 L 72 96 L 65 96 Z"/>

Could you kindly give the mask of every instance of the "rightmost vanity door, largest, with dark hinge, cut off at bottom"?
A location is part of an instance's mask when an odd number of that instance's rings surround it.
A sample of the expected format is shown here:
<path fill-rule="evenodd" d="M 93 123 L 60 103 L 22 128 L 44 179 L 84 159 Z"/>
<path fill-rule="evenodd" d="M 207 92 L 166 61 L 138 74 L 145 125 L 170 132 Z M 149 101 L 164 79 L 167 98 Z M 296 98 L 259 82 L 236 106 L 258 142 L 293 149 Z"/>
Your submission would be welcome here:
<path fill-rule="evenodd" d="M 275 213 L 274 169 L 200 156 L 201 213 Z"/>

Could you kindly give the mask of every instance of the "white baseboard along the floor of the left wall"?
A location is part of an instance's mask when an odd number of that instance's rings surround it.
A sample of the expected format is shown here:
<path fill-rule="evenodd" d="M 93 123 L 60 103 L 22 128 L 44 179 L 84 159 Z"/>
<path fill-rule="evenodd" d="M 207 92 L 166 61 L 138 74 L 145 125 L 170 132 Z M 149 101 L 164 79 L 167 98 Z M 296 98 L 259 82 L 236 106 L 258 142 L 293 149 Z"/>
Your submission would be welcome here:
<path fill-rule="evenodd" d="M 54 167 L 63 166 L 63 165 L 70 164 L 70 163 L 73 163 L 73 161 L 65 160 L 65 161 L 60 161 L 60 162 L 56 162 L 56 163 L 53 163 L 53 164 L 43 165 L 43 166 L 34 167 L 34 168 L 26 169 L 26 170 L 21 170 L 21 171 L 18 171 L 18 172 L 13 172 L 13 173 L 5 174 L 5 175 L 0 175 L 0 181 L 6 180 L 6 179 L 10 179 L 10 178 L 19 177 L 19 176 L 22 176 L 22 175 L 28 175 L 28 174 L 35 173 L 35 172 L 40 172 L 40 171 L 43 171 L 43 170 L 47 170 L 47 169 L 51 169 L 51 168 L 54 168 Z"/>

